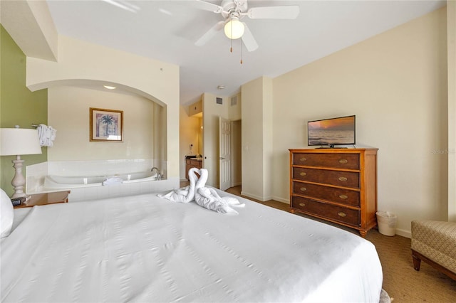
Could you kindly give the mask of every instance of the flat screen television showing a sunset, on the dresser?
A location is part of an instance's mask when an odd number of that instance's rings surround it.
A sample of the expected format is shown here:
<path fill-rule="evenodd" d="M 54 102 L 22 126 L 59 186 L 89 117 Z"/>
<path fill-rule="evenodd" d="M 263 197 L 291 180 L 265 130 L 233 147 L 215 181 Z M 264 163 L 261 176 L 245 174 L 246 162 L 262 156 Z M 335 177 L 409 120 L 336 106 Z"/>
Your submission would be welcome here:
<path fill-rule="evenodd" d="M 356 144 L 356 116 L 337 117 L 307 122 L 309 146 Z"/>

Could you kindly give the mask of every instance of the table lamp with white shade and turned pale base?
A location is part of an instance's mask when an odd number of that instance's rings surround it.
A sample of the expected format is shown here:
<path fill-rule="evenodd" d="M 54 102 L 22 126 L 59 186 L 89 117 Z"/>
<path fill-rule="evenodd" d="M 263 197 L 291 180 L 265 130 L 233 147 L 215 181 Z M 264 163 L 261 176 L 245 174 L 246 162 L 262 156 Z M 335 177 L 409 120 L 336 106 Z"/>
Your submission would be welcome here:
<path fill-rule="evenodd" d="M 12 160 L 16 174 L 11 181 L 14 186 L 14 193 L 11 198 L 26 197 L 26 193 L 24 193 L 26 179 L 22 175 L 24 160 L 21 160 L 21 155 L 24 154 L 41 154 L 38 131 L 19 128 L 17 125 L 16 128 L 1 128 L 0 156 L 16 156 L 16 160 Z"/>

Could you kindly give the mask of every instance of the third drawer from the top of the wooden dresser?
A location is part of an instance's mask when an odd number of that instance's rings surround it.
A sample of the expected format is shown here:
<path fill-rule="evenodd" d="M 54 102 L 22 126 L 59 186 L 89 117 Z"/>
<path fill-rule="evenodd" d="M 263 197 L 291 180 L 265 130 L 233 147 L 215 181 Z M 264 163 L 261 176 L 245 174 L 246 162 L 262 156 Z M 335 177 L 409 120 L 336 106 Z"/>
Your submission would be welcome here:
<path fill-rule="evenodd" d="M 359 191 L 293 181 L 293 193 L 351 206 L 360 206 Z"/>

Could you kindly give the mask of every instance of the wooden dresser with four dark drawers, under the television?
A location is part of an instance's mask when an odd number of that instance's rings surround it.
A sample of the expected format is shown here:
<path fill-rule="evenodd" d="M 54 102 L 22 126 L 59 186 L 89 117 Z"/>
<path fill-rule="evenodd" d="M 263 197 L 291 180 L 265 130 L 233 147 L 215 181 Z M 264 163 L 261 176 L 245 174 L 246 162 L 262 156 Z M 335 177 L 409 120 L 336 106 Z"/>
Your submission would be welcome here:
<path fill-rule="evenodd" d="M 378 149 L 290 149 L 291 212 L 359 230 L 377 225 Z"/>

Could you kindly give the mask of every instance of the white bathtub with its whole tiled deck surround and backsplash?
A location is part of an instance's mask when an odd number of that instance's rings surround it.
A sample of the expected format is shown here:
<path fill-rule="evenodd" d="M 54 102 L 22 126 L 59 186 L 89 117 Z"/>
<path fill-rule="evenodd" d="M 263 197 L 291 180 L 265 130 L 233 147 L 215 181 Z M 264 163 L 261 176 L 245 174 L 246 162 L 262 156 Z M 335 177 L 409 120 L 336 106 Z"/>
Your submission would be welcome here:
<path fill-rule="evenodd" d="M 46 164 L 27 166 L 27 192 L 46 193 L 71 190 L 70 202 L 93 198 L 112 198 L 140 193 L 165 191 L 179 187 L 178 178 L 167 178 L 167 167 L 153 159 L 120 159 L 95 161 L 48 161 Z M 115 184 L 103 182 L 109 178 L 119 179 Z M 120 180 L 121 179 L 121 180 Z"/>

